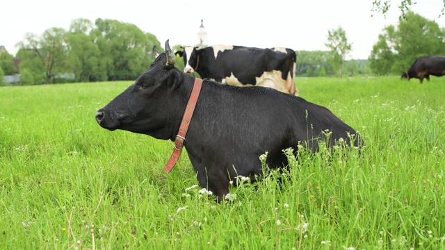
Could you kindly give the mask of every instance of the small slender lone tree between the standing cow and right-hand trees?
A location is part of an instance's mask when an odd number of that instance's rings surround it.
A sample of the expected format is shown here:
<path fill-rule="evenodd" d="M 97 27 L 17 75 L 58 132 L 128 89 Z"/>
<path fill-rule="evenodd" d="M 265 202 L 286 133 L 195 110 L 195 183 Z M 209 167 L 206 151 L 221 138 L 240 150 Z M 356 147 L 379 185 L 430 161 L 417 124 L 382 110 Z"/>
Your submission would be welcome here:
<path fill-rule="evenodd" d="M 337 30 L 327 31 L 326 47 L 330 49 L 330 62 L 335 69 L 335 72 L 340 77 L 343 76 L 343 62 L 352 49 L 352 44 L 348 43 L 346 32 L 339 27 Z"/>

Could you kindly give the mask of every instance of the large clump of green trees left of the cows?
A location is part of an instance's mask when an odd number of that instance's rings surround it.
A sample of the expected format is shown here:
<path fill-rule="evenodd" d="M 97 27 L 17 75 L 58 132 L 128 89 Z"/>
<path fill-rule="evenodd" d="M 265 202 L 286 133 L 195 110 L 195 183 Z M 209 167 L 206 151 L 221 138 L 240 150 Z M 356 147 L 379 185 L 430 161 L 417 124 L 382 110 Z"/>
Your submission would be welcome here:
<path fill-rule="evenodd" d="M 76 19 L 69 31 L 27 33 L 17 45 L 19 72 L 8 65 L 10 55 L 0 65 L 4 74 L 19 73 L 22 84 L 134 80 L 153 62 L 153 46 L 161 50 L 154 35 L 112 19 Z"/>

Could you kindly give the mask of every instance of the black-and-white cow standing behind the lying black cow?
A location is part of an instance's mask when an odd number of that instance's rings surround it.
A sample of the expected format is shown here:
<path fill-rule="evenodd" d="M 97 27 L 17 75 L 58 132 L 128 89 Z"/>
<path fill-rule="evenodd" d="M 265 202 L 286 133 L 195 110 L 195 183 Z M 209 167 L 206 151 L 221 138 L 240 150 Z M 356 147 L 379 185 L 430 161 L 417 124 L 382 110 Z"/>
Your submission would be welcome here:
<path fill-rule="evenodd" d="M 259 49 L 214 45 L 204 49 L 184 47 L 175 54 L 184 58 L 184 72 L 234 86 L 270 87 L 298 96 L 293 78 L 297 55 L 292 49 Z"/>

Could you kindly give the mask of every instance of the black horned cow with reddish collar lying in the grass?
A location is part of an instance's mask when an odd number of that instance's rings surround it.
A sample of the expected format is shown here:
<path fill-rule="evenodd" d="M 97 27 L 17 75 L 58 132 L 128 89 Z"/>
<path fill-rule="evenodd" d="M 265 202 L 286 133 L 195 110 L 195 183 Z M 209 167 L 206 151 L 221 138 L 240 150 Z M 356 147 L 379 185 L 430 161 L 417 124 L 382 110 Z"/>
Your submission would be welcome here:
<path fill-rule="evenodd" d="M 175 141 L 173 154 L 185 141 L 197 180 L 218 201 L 229 192 L 229 181 L 236 185 L 237 176 L 253 182 L 263 173 L 259 156 L 265 152 L 268 167 L 282 168 L 288 165 L 282 149 L 305 145 L 316 151 L 318 139 L 328 146 L 340 138 L 361 144 L 355 130 L 323 106 L 270 88 L 194 78 L 175 67 L 168 40 L 165 52 L 159 54 L 156 47 L 153 52 L 156 59 L 147 72 L 97 111 L 97 123 L 110 131 Z"/>

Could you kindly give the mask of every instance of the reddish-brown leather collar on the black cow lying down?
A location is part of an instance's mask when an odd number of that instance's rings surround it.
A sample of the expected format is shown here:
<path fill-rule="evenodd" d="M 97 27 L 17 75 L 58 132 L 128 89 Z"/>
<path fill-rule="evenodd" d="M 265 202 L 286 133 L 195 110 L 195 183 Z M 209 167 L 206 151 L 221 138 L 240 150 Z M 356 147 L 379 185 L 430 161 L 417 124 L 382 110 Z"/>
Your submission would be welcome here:
<path fill-rule="evenodd" d="M 181 156 L 182 147 L 184 147 L 184 142 L 186 141 L 186 134 L 188 130 L 188 125 L 192 119 L 193 111 L 195 110 L 197 97 L 200 96 L 202 87 L 202 79 L 195 78 L 195 83 L 193 84 L 192 94 L 190 95 L 190 99 L 188 99 L 186 111 L 184 112 L 184 117 L 182 117 L 181 125 L 179 126 L 178 134 L 175 139 L 175 149 L 173 149 L 172 156 L 170 156 L 170 160 L 168 160 L 167 165 L 164 167 L 164 172 L 168 173 L 175 167 L 179 156 Z"/>

